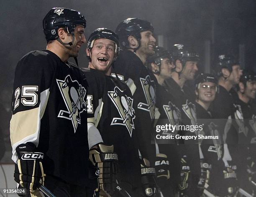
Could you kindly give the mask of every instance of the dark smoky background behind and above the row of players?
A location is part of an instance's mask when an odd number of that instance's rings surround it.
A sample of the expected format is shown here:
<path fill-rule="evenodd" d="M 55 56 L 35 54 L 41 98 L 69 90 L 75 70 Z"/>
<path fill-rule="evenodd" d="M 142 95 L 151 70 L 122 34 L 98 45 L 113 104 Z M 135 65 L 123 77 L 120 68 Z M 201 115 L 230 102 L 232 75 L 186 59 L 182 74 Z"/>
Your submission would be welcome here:
<path fill-rule="evenodd" d="M 150 21 L 155 37 L 163 35 L 168 49 L 183 43 L 200 52 L 200 70 L 217 54 L 229 52 L 241 60 L 243 68 L 256 70 L 255 0 L 8 0 L 1 1 L 0 37 L 0 126 L 8 149 L 11 95 L 18 60 L 32 50 L 46 47 L 42 20 L 53 7 L 79 10 L 87 19 L 86 37 L 98 27 L 115 30 L 128 17 Z M 210 60 L 205 58 L 205 43 Z M 85 45 L 79 66 L 87 67 Z"/>

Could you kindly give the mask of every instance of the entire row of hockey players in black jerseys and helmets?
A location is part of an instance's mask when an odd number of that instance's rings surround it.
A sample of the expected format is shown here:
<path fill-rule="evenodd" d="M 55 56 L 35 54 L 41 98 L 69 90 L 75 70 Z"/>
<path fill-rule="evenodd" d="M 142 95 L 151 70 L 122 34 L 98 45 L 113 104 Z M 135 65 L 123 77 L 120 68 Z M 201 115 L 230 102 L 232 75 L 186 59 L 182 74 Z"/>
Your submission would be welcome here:
<path fill-rule="evenodd" d="M 16 67 L 10 138 L 15 181 L 30 190 L 26 196 L 41 196 L 39 183 L 58 197 L 253 192 L 244 173 L 249 160 L 253 174 L 253 147 L 233 143 L 255 136 L 248 107 L 255 75 L 241 77 L 236 59 L 220 55 L 218 79 L 201 74 L 190 91 L 184 84 L 194 79 L 199 55 L 181 44 L 172 53 L 156 47 L 153 26 L 138 18 L 121 22 L 116 33 L 96 29 L 87 42 L 89 68 L 79 69 L 67 60 L 77 62 L 85 27 L 79 12 L 51 9 L 43 20 L 46 50 L 31 51 Z M 221 138 L 161 144 L 154 128 L 166 123 L 204 124 L 203 134 Z"/>

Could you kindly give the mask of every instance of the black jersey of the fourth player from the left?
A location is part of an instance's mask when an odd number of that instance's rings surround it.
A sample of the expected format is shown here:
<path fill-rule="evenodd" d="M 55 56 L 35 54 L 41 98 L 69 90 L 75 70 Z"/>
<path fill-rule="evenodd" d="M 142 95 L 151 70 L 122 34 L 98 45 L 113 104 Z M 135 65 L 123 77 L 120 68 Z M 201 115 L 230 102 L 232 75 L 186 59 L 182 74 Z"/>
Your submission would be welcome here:
<path fill-rule="evenodd" d="M 166 181 L 161 177 L 158 179 L 158 184 L 161 188 L 161 192 L 164 196 L 174 195 L 174 191 L 177 189 L 177 185 L 180 182 L 180 155 L 178 151 L 177 140 L 175 135 L 178 134 L 177 130 L 169 130 L 169 125 L 179 125 L 181 121 L 180 106 L 177 101 L 174 100 L 171 94 L 169 94 L 164 87 L 160 84 L 156 84 L 156 95 L 159 95 L 156 100 L 156 107 L 159 111 L 159 118 L 155 123 L 155 138 L 156 138 L 156 154 L 165 154 L 167 160 L 169 160 L 170 179 Z M 156 132 L 156 129 L 161 125 L 168 125 L 166 130 Z M 167 136 L 172 135 L 174 139 L 158 139 L 156 135 Z M 157 159 L 157 158 L 156 158 Z M 157 164 L 157 162 L 156 162 Z M 156 166 L 157 169 L 157 166 Z"/>

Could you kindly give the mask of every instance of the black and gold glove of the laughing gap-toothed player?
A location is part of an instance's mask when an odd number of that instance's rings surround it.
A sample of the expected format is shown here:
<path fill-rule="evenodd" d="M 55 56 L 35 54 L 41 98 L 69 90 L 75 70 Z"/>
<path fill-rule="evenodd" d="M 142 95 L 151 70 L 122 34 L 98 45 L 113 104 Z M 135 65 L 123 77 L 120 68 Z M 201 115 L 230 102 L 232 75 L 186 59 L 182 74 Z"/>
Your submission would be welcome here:
<path fill-rule="evenodd" d="M 98 144 L 97 148 L 90 150 L 90 161 L 99 168 L 100 195 L 113 195 L 117 187 L 118 155 L 114 152 L 114 146 Z"/>

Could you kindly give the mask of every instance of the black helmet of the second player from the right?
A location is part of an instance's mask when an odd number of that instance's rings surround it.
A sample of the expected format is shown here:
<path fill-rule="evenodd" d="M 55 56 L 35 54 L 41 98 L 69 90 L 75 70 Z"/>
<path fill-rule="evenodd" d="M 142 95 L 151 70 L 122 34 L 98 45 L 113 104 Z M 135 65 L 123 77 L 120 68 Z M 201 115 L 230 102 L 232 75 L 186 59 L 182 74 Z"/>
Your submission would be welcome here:
<path fill-rule="evenodd" d="M 220 54 L 215 60 L 215 66 L 213 70 L 215 71 L 216 75 L 220 77 L 222 75 L 221 69 L 225 68 L 232 72 L 232 66 L 239 65 L 238 59 L 231 54 Z"/>

